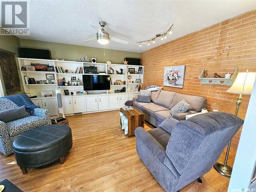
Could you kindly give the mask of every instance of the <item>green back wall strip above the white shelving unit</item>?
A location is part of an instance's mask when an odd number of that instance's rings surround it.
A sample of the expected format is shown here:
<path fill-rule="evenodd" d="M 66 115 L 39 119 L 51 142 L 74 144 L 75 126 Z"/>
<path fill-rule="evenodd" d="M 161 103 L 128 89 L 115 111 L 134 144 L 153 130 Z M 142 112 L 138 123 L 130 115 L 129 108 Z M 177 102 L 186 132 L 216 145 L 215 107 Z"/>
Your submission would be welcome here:
<path fill-rule="evenodd" d="M 84 55 L 89 58 L 97 58 L 97 62 L 106 62 L 110 60 L 112 63 L 122 63 L 124 57 L 140 58 L 140 53 L 118 51 L 105 49 L 105 56 L 103 49 L 93 48 L 86 46 L 76 46 L 69 44 L 59 44 L 56 42 L 46 42 L 39 40 L 20 39 L 20 47 L 34 48 L 34 49 L 47 49 L 51 51 L 52 58 L 77 60 Z"/>

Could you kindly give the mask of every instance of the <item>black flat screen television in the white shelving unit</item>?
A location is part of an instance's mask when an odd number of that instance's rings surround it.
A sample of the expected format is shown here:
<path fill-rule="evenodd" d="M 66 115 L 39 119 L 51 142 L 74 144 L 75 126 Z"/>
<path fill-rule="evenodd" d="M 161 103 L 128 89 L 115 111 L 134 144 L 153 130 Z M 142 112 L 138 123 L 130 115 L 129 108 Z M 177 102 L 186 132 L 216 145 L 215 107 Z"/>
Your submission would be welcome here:
<path fill-rule="evenodd" d="M 109 75 L 83 75 L 83 90 L 110 90 L 110 76 Z"/>

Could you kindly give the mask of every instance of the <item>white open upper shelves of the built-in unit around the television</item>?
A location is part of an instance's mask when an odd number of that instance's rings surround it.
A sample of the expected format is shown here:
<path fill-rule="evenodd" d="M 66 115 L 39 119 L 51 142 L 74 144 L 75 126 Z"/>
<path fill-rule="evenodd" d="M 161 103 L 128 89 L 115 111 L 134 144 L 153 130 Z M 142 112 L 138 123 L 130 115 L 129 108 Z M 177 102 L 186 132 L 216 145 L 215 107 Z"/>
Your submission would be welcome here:
<path fill-rule="evenodd" d="M 110 75 L 111 77 L 111 87 L 110 90 L 106 90 L 106 93 L 115 93 L 115 90 L 121 90 L 125 88 L 125 93 L 132 93 L 136 91 L 136 86 L 139 83 L 136 83 L 136 79 L 140 79 L 140 83 L 143 84 L 143 73 L 144 66 L 134 66 L 134 65 L 123 65 L 123 64 L 107 64 L 107 63 L 92 63 L 92 62 L 79 62 L 79 61 L 67 61 L 67 60 L 51 60 L 51 59 L 34 59 L 34 58 L 18 58 L 19 61 L 19 70 L 22 74 L 22 82 L 24 86 L 25 93 L 29 93 L 30 95 L 40 96 L 40 91 L 52 90 L 55 94 L 55 90 L 60 88 L 61 94 L 64 95 L 64 90 L 76 91 L 83 90 L 83 86 L 59 86 L 58 79 L 62 79 L 65 77 L 66 82 L 71 80 L 71 77 L 76 77 L 76 79 L 80 79 L 82 82 L 82 75 Z M 22 71 L 22 67 L 31 66 L 31 63 L 41 63 L 47 64 L 54 68 L 54 71 Z M 99 70 L 99 74 L 88 74 L 84 73 L 84 66 L 95 66 Z M 75 72 L 77 68 L 82 68 L 82 73 L 58 73 L 56 72 L 55 67 L 62 67 L 62 69 Z M 109 74 L 110 67 L 113 70 L 117 70 L 121 72 L 120 69 L 123 70 L 123 74 Z M 139 67 L 142 67 L 142 74 L 128 74 L 129 68 L 134 68 L 137 72 Z M 116 73 L 116 71 L 115 71 Z M 47 80 L 46 74 L 54 74 L 54 80 L 52 80 L 52 84 L 27 84 L 25 82 L 24 76 L 27 78 L 34 78 L 35 81 L 38 80 Z M 128 79 L 128 76 L 131 76 L 131 79 Z M 125 84 L 114 85 L 116 80 L 125 81 Z M 48 80 L 47 80 L 48 82 Z M 118 93 L 121 94 L 121 93 Z"/>

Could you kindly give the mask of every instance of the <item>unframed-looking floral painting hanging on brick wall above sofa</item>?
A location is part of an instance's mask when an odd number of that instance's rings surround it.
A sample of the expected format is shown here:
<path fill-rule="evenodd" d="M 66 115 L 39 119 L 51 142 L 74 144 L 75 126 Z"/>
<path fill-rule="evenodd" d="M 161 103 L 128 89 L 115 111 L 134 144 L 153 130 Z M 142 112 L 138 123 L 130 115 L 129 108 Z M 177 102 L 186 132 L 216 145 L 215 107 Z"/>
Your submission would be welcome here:
<path fill-rule="evenodd" d="M 164 68 L 163 85 L 168 87 L 183 88 L 185 66 L 171 66 Z"/>

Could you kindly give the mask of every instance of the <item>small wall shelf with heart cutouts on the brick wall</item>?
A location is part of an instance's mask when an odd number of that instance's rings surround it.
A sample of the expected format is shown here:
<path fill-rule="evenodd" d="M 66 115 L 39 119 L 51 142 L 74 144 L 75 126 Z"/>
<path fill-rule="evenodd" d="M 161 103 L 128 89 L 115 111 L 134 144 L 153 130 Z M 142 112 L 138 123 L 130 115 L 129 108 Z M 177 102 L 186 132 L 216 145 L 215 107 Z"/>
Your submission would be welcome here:
<path fill-rule="evenodd" d="M 199 75 L 201 84 L 224 84 L 225 86 L 231 86 L 238 75 L 238 68 L 234 70 L 234 73 L 230 78 L 212 78 L 212 77 L 203 77 L 204 71 Z"/>

